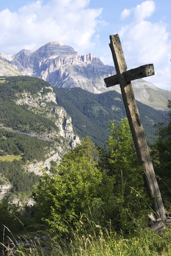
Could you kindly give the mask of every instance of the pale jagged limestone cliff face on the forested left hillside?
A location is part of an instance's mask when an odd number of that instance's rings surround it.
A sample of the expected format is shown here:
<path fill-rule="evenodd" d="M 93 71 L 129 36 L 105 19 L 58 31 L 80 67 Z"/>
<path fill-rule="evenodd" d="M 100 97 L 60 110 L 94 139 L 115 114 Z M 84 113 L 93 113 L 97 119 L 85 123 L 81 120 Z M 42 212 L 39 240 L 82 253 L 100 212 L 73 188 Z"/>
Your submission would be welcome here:
<path fill-rule="evenodd" d="M 55 125 L 58 127 L 58 132 L 54 130 L 51 133 L 44 134 L 29 133 L 29 136 L 35 138 L 47 141 L 54 141 L 58 139 L 59 142 L 55 143 L 57 152 L 50 152 L 44 162 L 34 162 L 27 164 L 25 170 L 28 172 L 34 172 L 36 175 L 42 175 L 43 169 L 50 169 L 51 161 L 59 163 L 61 157 L 68 150 L 71 150 L 76 145 L 80 144 L 78 135 L 73 132 L 71 117 L 66 113 L 63 107 L 59 107 L 56 104 L 56 97 L 53 92 L 53 88 L 50 86 L 45 88 L 47 89 L 46 94 L 43 94 L 43 89 L 34 96 L 24 91 L 22 94 L 16 94 L 15 100 L 17 104 L 27 104 L 29 109 L 34 113 L 41 113 L 44 115 L 44 117 L 55 119 Z"/>

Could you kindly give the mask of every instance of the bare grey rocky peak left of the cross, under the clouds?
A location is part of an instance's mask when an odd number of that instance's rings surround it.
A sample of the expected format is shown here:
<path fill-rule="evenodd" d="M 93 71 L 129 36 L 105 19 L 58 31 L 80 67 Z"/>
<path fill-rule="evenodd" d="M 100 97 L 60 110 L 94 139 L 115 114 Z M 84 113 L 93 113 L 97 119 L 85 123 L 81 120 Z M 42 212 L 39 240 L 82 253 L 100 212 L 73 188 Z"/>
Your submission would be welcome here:
<path fill-rule="evenodd" d="M 93 54 L 79 55 L 61 42 L 50 42 L 36 51 L 23 49 L 6 58 L 4 54 L 3 60 L 17 66 L 25 75 L 44 79 L 52 86 L 79 86 L 93 93 L 105 91 L 103 79 L 115 72 Z"/>

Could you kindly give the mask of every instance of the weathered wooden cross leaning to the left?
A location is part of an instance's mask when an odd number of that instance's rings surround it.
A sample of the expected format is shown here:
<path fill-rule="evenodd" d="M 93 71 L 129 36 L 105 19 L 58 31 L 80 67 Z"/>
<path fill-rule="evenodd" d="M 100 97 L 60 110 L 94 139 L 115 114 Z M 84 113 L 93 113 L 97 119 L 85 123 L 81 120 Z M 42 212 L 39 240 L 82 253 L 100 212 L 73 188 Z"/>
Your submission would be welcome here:
<path fill-rule="evenodd" d="M 122 45 L 118 34 L 110 35 L 110 49 L 117 74 L 104 79 L 107 87 L 120 84 L 123 102 L 127 118 L 131 128 L 132 138 L 135 144 L 140 165 L 145 170 L 147 192 L 153 198 L 153 210 L 156 217 L 166 219 L 166 214 L 161 199 L 161 193 L 157 184 L 155 172 L 150 158 L 147 141 L 144 135 L 140 114 L 134 97 L 131 80 L 154 75 L 153 64 L 141 66 L 127 71 L 127 64 L 123 55 Z"/>

